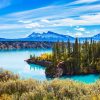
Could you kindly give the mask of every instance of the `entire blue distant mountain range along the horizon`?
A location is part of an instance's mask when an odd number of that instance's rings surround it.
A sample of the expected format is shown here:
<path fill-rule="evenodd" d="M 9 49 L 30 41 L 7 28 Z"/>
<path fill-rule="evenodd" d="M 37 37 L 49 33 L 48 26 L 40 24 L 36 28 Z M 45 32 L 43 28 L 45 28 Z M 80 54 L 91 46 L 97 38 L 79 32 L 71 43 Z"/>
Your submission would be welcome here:
<path fill-rule="evenodd" d="M 47 33 L 43 32 L 41 33 L 35 33 L 33 32 L 32 34 L 30 34 L 29 36 L 27 36 L 26 38 L 19 38 L 19 39 L 4 39 L 4 38 L 0 38 L 0 41 L 47 41 L 47 42 L 56 42 L 56 41 L 74 41 L 75 37 L 69 36 L 69 35 L 62 35 L 62 34 L 58 34 L 58 33 L 54 33 L 51 31 L 48 31 Z M 94 35 L 93 37 L 79 37 L 80 41 L 84 41 L 84 40 L 95 40 L 95 41 L 100 41 L 100 33 L 97 35 Z"/>

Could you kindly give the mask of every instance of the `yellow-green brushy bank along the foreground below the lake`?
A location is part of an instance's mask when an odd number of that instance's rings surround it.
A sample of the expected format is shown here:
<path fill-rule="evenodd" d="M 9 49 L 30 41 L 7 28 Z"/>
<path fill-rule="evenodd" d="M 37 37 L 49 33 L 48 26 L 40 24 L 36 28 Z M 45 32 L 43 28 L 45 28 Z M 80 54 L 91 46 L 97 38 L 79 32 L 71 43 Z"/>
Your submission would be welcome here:
<path fill-rule="evenodd" d="M 84 84 L 58 79 L 21 80 L 18 75 L 0 69 L 0 100 L 100 100 L 100 81 Z"/>

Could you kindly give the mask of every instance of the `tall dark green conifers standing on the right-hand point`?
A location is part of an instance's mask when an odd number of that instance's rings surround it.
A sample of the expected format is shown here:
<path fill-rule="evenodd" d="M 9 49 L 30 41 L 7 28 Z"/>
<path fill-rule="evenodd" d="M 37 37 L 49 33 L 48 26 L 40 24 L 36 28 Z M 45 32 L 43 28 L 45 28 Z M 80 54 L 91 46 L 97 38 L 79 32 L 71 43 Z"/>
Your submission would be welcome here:
<path fill-rule="evenodd" d="M 83 43 L 76 38 L 75 43 L 57 42 L 52 50 L 52 62 L 56 66 L 64 62 L 69 73 L 100 72 L 100 41 L 85 40 Z"/>

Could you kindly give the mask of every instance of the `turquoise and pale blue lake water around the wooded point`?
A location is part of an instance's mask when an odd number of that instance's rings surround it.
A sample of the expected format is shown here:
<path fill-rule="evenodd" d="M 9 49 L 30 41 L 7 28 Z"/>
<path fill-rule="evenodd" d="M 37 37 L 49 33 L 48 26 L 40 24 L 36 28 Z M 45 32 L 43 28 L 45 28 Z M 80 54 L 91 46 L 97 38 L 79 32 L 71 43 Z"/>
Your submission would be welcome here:
<path fill-rule="evenodd" d="M 19 74 L 21 78 L 33 78 L 36 80 L 47 80 L 45 69 L 42 66 L 27 64 L 24 60 L 28 59 L 30 54 L 39 56 L 42 53 L 51 52 L 51 49 L 27 49 L 27 50 L 9 50 L 0 51 L 0 67 Z M 72 77 L 62 77 L 60 79 L 73 79 L 85 83 L 93 83 L 100 79 L 99 75 L 80 75 Z"/>

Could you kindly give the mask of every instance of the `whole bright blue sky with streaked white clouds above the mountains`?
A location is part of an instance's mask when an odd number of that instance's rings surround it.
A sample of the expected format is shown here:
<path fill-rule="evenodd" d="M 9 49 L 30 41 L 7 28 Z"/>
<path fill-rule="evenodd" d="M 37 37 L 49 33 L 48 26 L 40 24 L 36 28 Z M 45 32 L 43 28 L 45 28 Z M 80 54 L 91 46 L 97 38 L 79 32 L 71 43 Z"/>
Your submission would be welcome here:
<path fill-rule="evenodd" d="M 100 33 L 100 0 L 0 0 L 0 38 L 47 31 L 79 37 Z"/>

